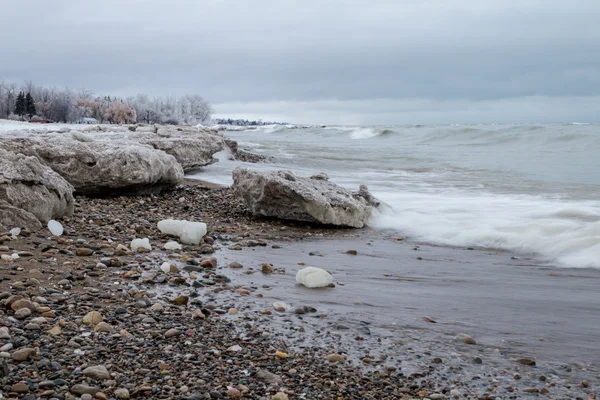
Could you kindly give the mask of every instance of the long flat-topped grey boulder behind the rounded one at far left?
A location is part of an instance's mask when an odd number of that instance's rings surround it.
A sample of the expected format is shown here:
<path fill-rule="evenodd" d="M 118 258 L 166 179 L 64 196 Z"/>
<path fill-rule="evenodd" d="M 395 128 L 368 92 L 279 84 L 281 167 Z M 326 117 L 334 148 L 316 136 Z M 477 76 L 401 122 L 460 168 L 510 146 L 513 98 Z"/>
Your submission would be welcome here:
<path fill-rule="evenodd" d="M 183 181 L 173 156 L 134 142 L 9 139 L 0 148 L 36 157 L 83 194 L 156 192 Z"/>

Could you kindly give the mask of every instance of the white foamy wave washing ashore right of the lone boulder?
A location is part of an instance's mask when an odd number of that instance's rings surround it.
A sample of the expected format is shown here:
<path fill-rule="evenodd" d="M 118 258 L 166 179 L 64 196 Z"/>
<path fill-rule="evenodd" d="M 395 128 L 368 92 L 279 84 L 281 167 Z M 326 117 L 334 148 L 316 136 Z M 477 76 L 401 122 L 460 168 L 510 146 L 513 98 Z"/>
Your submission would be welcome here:
<path fill-rule="evenodd" d="M 600 203 L 490 193 L 375 193 L 393 211 L 371 225 L 419 240 L 537 254 L 565 267 L 600 268 Z"/>

